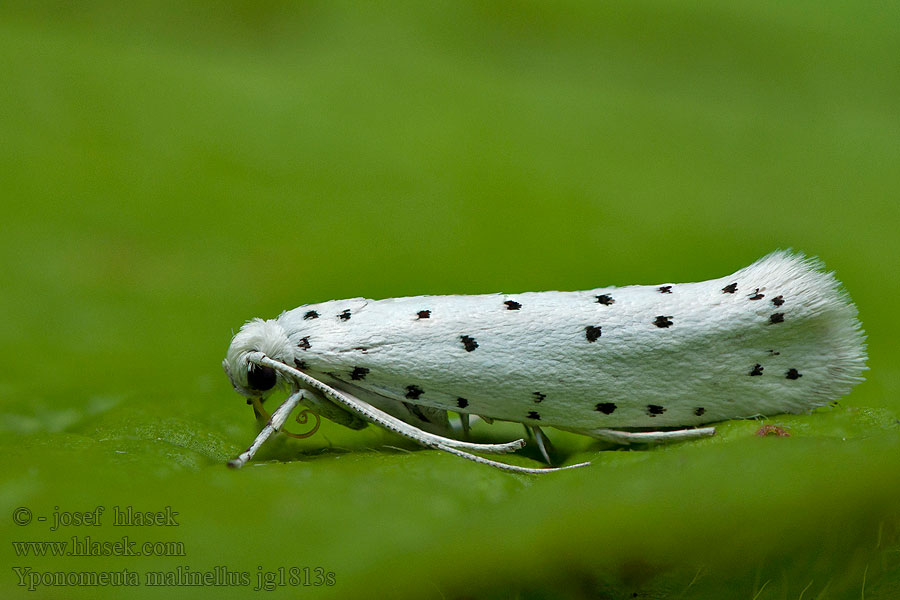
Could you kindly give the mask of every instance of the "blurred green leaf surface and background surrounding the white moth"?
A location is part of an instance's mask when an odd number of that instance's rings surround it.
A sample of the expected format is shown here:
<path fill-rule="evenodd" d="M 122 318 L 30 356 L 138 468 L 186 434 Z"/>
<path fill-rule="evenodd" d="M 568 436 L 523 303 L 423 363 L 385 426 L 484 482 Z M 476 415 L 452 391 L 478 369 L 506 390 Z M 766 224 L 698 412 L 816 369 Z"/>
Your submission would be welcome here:
<path fill-rule="evenodd" d="M 898 19 L 807 1 L 4 2 L 2 595 L 900 597 Z M 224 466 L 256 432 L 220 367 L 250 317 L 695 281 L 786 247 L 836 270 L 871 368 L 838 407 L 766 421 L 790 438 L 741 421 L 601 452 L 550 432 L 594 465 L 525 477 L 323 424 Z M 50 530 L 97 506 L 102 526 Z M 115 506 L 179 525 L 113 527 Z M 15 525 L 17 507 L 50 521 Z M 10 544 L 73 535 L 184 555 Z M 217 567 L 248 584 L 29 592 L 17 574 Z M 334 585 L 253 591 L 292 567 Z"/>

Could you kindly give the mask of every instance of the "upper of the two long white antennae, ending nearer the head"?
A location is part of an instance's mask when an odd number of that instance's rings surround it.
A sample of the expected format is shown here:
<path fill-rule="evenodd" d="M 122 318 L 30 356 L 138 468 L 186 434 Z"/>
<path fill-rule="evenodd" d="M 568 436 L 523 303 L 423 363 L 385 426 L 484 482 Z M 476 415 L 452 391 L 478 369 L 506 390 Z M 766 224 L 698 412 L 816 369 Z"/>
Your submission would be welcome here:
<path fill-rule="evenodd" d="M 447 446 L 461 450 L 471 450 L 474 452 L 500 454 L 505 452 L 514 452 L 525 445 L 525 440 L 522 439 L 514 440 L 512 442 L 506 442 L 504 444 L 476 444 L 472 442 L 461 442 L 459 440 L 454 440 L 433 433 L 428 433 L 427 431 L 422 431 L 417 427 L 413 427 L 409 423 L 406 423 L 396 417 L 387 414 L 382 410 L 375 408 L 374 406 L 371 406 L 370 404 L 367 404 L 366 402 L 363 402 L 352 394 L 339 391 L 325 383 L 322 383 L 318 379 L 310 377 L 303 371 L 295 369 L 282 362 L 278 362 L 277 360 L 272 360 L 262 352 L 248 353 L 247 360 L 254 364 L 271 367 L 277 372 L 281 373 L 283 376 L 286 376 L 290 379 L 293 379 L 297 383 L 303 384 L 308 388 L 318 391 L 332 402 L 345 406 L 347 409 L 355 412 L 366 421 L 378 425 L 379 427 L 384 427 L 385 429 L 393 431 L 394 433 L 402 435 L 403 437 L 418 442 L 423 446 Z"/>

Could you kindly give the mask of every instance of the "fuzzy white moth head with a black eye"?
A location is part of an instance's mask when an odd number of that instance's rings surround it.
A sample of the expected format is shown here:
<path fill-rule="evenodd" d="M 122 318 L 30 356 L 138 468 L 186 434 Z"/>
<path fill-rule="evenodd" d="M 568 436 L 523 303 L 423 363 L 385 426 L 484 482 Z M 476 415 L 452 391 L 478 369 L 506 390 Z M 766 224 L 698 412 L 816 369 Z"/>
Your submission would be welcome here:
<path fill-rule="evenodd" d="M 287 334 L 277 320 L 253 319 L 245 323 L 231 340 L 222 361 L 222 367 L 237 392 L 251 398 L 264 398 L 286 382 L 272 367 L 250 362 L 248 357 L 253 352 L 262 352 L 279 362 L 293 356 Z"/>

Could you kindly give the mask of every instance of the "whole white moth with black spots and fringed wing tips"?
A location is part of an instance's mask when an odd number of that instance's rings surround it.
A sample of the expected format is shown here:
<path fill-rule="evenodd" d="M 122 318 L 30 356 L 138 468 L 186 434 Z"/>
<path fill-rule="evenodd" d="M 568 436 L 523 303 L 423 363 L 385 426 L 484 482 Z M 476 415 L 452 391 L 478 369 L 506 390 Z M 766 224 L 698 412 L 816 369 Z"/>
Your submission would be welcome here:
<path fill-rule="evenodd" d="M 223 363 L 234 388 L 257 408 L 277 388 L 290 395 L 229 464 L 250 460 L 302 404 L 353 429 L 374 423 L 476 462 L 546 472 L 556 469 L 472 454 L 525 442 L 455 439 L 447 412 L 464 433 L 469 415 L 523 423 L 545 457 L 541 427 L 621 444 L 693 439 L 715 432 L 706 423 L 836 401 L 862 380 L 865 359 L 840 283 L 782 251 L 699 283 L 332 300 L 234 336 Z"/>

